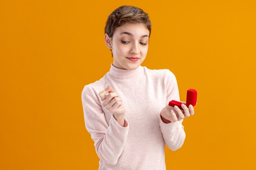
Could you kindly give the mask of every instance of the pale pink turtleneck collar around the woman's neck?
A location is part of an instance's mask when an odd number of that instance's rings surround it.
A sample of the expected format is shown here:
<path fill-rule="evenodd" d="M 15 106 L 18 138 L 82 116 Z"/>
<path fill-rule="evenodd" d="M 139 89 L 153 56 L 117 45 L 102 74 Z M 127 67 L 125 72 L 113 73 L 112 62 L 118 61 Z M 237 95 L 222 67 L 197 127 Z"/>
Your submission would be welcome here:
<path fill-rule="evenodd" d="M 111 63 L 111 67 L 109 70 L 109 74 L 112 78 L 117 78 L 117 79 L 133 79 L 136 77 L 139 77 L 143 73 L 143 67 L 139 65 L 137 69 L 134 70 L 128 70 L 128 69 L 119 69 Z"/>

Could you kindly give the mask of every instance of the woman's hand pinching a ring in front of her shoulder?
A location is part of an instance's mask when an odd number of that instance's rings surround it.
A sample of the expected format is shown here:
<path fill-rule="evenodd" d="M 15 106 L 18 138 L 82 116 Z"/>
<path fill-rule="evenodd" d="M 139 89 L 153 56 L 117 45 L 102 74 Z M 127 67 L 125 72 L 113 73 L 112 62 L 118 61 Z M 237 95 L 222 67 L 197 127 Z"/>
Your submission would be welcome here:
<path fill-rule="evenodd" d="M 109 93 L 108 95 L 106 95 L 107 92 Z M 99 92 L 99 96 L 101 101 L 103 101 L 102 105 L 108 111 L 110 111 L 110 113 L 114 114 L 115 117 L 124 116 L 126 110 L 122 103 L 122 99 L 116 92 L 114 92 L 110 85 L 108 85 L 106 89 L 103 89 L 101 92 Z"/>

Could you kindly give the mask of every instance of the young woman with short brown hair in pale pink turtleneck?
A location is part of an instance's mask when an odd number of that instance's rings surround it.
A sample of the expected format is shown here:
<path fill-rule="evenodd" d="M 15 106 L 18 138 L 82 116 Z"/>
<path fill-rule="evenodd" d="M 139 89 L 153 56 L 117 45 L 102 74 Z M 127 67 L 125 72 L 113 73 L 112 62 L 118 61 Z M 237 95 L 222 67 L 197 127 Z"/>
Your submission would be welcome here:
<path fill-rule="evenodd" d="M 113 63 L 81 96 L 99 170 L 165 170 L 165 144 L 175 151 L 184 143 L 182 121 L 194 114 L 193 106 L 168 105 L 180 101 L 169 69 L 141 66 L 150 32 L 148 14 L 137 7 L 121 6 L 108 16 L 104 38 Z"/>

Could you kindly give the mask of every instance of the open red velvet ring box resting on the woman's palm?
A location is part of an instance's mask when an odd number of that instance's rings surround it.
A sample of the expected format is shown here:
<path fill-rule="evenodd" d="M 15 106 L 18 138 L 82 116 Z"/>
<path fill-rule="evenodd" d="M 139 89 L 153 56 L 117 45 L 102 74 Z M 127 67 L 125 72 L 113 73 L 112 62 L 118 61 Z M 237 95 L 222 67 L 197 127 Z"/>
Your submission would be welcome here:
<path fill-rule="evenodd" d="M 195 89 L 188 89 L 186 92 L 186 107 L 189 107 L 189 105 L 195 106 L 196 105 L 196 98 L 197 98 L 198 93 L 196 92 Z M 170 101 L 169 102 L 169 106 L 174 107 L 175 105 L 177 105 L 181 110 L 183 110 L 183 108 L 181 107 L 181 102 L 179 101 Z"/>

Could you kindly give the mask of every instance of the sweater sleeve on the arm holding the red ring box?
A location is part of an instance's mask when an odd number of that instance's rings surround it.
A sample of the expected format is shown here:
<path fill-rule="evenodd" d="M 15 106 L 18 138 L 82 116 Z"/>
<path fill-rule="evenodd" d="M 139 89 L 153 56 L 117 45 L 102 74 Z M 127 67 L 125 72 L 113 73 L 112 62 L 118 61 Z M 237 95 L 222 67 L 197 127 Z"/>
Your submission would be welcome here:
<path fill-rule="evenodd" d="M 166 70 L 165 82 L 167 105 L 171 100 L 180 101 L 180 95 L 175 75 L 169 69 Z M 163 134 L 164 142 L 167 147 L 173 151 L 179 149 L 183 145 L 186 137 L 182 121 L 183 119 L 173 123 L 164 123 L 161 119 L 161 115 L 159 114 L 160 129 Z"/>

